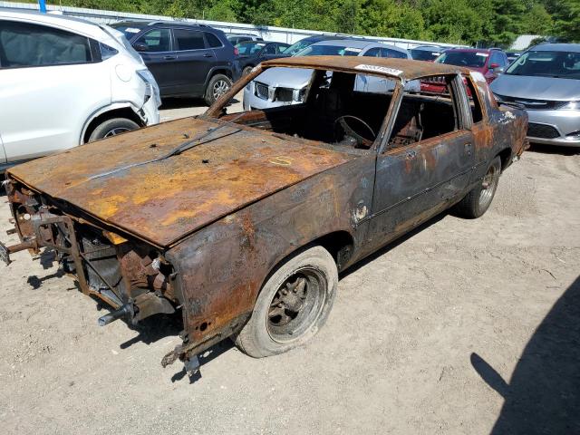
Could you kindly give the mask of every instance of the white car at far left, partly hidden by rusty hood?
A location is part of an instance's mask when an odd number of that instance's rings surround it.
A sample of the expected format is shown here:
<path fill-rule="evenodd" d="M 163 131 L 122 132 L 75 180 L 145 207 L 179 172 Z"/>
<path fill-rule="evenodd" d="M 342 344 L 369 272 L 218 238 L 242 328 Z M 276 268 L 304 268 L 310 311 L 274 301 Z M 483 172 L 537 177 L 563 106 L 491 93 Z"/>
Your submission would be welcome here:
<path fill-rule="evenodd" d="M 0 169 L 159 122 L 157 82 L 111 27 L 0 12 Z"/>

